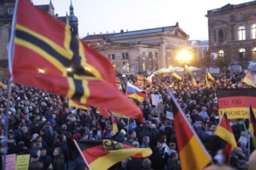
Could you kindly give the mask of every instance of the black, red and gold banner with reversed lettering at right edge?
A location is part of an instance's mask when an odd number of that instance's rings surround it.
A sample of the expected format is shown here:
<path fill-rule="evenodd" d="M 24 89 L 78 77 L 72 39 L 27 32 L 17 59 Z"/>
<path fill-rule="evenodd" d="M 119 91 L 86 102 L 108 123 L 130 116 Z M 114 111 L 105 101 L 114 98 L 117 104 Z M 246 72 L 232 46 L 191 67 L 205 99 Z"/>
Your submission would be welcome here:
<path fill-rule="evenodd" d="M 226 112 L 228 119 L 249 119 L 249 104 L 252 105 L 253 113 L 256 113 L 256 89 L 218 89 L 219 117 Z"/>

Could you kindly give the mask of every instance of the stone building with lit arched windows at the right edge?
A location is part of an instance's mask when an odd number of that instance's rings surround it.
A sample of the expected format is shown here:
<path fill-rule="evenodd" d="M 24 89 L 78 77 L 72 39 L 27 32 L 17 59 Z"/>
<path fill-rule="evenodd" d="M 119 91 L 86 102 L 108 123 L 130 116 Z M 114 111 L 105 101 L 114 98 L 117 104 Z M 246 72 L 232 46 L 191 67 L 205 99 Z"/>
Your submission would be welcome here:
<path fill-rule="evenodd" d="M 209 53 L 232 64 L 256 62 L 256 1 L 208 10 Z"/>

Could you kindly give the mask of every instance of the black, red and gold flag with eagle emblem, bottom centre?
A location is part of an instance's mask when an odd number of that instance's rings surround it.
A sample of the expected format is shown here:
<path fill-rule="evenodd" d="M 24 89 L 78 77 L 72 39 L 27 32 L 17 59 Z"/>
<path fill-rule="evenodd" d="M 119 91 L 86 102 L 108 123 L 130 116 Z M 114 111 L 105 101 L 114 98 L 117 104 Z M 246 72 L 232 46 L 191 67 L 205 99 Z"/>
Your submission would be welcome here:
<path fill-rule="evenodd" d="M 135 148 L 117 141 L 75 141 L 80 154 L 91 170 L 106 170 L 129 157 L 145 158 L 152 154 L 151 148 Z"/>

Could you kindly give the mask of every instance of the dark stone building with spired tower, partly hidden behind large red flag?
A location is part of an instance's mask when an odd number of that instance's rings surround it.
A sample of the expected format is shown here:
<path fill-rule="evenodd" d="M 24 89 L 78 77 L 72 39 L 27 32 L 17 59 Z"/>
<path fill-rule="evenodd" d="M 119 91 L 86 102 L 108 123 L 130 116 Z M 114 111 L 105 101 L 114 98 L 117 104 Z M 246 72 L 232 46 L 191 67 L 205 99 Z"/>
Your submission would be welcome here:
<path fill-rule="evenodd" d="M 28 0 L 32 3 L 31 0 Z M 0 0 L 0 78 L 7 78 L 7 66 L 8 66 L 8 49 L 10 42 L 10 29 L 12 23 L 12 16 L 14 13 L 16 0 Z M 56 17 L 58 20 L 71 25 L 71 30 L 74 34 L 78 34 L 78 19 L 74 15 L 74 8 L 71 3 L 70 15 L 58 16 L 55 14 L 54 6 L 51 3 L 36 5 L 39 9 L 44 10 L 51 16 Z"/>

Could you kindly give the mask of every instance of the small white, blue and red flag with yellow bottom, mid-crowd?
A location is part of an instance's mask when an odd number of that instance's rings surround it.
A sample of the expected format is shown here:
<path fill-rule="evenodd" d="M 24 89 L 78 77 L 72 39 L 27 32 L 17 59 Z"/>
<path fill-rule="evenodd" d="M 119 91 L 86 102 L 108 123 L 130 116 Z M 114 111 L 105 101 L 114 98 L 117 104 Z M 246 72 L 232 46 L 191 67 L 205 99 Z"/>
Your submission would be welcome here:
<path fill-rule="evenodd" d="M 133 86 L 130 82 L 127 82 L 126 95 L 138 101 L 143 101 L 146 93 L 144 90 Z"/>

